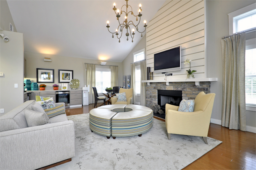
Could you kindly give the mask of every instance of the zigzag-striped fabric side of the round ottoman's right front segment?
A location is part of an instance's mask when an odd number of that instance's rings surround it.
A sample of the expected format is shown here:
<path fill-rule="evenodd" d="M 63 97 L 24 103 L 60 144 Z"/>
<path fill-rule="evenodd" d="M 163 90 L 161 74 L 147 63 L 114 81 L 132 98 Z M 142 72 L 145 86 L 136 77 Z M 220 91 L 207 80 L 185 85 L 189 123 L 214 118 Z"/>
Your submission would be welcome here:
<path fill-rule="evenodd" d="M 138 112 L 138 110 L 131 112 Z M 114 118 L 112 118 L 112 136 L 134 136 L 147 132 L 152 126 L 153 112 L 149 112 L 147 116 L 138 118 L 116 119 L 116 116 L 114 116 Z"/>

